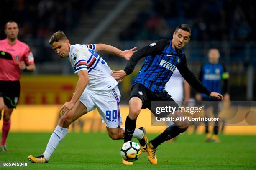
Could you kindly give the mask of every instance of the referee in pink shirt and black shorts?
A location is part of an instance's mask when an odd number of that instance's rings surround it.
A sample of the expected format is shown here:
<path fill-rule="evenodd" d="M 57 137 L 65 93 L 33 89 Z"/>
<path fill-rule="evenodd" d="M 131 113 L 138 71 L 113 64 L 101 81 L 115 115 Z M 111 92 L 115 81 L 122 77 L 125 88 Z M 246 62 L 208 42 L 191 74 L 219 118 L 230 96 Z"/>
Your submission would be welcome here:
<path fill-rule="evenodd" d="M 0 119 L 4 110 L 1 152 L 7 151 L 6 139 L 11 125 L 10 117 L 20 97 L 20 70 L 36 70 L 33 54 L 28 45 L 17 39 L 18 33 L 18 24 L 9 21 L 5 25 L 7 38 L 0 40 Z"/>

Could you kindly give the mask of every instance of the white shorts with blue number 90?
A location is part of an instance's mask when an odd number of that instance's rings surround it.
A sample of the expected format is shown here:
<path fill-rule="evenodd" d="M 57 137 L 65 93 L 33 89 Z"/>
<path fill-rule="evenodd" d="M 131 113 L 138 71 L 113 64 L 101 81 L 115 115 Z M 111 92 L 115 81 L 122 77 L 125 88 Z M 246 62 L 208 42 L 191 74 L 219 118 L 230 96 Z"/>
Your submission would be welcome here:
<path fill-rule="evenodd" d="M 105 122 L 108 128 L 117 128 L 122 125 L 120 96 L 117 86 L 111 90 L 101 91 L 85 88 L 79 100 L 87 108 L 87 113 L 97 108 L 102 122 Z"/>

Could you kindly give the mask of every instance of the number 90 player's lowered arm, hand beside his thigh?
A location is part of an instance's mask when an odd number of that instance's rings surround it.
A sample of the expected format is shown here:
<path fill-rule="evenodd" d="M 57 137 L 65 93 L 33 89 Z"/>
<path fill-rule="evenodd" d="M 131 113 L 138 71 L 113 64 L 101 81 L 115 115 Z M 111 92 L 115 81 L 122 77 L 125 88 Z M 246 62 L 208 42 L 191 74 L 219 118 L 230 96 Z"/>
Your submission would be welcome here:
<path fill-rule="evenodd" d="M 77 102 L 79 97 L 82 95 L 86 85 L 89 82 L 89 76 L 88 76 L 87 70 L 81 70 L 81 71 L 77 72 L 77 75 L 79 76 L 79 80 L 77 82 L 77 87 L 75 89 L 74 95 L 69 102 L 66 102 L 61 107 L 61 110 L 60 110 L 61 115 L 67 114 L 69 112 L 69 110 L 71 110 L 74 107 L 74 104 Z"/>

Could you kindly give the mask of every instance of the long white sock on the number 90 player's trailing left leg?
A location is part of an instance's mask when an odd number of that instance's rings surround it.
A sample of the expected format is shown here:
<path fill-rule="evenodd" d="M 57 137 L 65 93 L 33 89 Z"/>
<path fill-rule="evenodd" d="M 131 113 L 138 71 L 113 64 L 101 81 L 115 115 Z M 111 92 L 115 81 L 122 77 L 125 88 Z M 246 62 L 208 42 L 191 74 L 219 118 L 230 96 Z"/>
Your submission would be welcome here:
<path fill-rule="evenodd" d="M 51 157 L 51 154 L 59 145 L 60 141 L 67 135 L 68 128 L 62 128 L 61 126 L 57 125 L 54 132 L 49 139 L 49 142 L 46 146 L 46 150 L 44 151 L 44 158 L 48 161 Z"/>

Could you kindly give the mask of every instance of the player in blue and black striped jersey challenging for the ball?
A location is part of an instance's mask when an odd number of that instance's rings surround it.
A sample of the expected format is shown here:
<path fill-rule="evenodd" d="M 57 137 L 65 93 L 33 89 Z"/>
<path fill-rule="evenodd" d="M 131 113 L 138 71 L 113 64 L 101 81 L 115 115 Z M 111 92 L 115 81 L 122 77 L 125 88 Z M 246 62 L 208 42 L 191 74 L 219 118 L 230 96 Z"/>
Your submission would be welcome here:
<path fill-rule="evenodd" d="M 179 105 L 164 90 L 166 82 L 169 81 L 176 68 L 197 91 L 222 99 L 222 95 L 219 93 L 207 90 L 187 67 L 186 57 L 182 49 L 189 42 L 190 35 L 191 29 L 187 24 L 179 25 L 173 33 L 172 40 L 158 40 L 141 48 L 133 54 L 124 70 L 113 71 L 113 77 L 122 81 L 125 76 L 133 72 L 138 61 L 146 57 L 140 72 L 132 82 L 129 115 L 125 121 L 125 142 L 131 140 L 133 136 L 141 109 L 148 108 L 151 110 L 151 101 L 172 101 L 173 104 L 170 107 L 179 108 Z M 184 116 L 181 112 L 175 112 L 174 115 Z M 156 148 L 164 141 L 185 132 L 187 128 L 188 121 L 174 121 L 174 125 L 169 126 L 159 136 L 143 145 L 142 147 L 148 153 L 149 162 L 157 164 Z"/>

